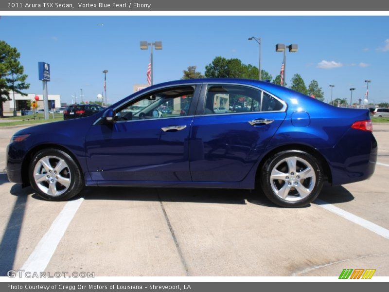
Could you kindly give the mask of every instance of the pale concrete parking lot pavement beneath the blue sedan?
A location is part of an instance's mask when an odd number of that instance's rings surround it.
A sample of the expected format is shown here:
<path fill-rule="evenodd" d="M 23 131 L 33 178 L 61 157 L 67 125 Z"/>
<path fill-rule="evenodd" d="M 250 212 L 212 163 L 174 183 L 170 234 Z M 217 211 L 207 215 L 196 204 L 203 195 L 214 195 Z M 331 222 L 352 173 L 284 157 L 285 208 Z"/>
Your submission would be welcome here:
<path fill-rule="evenodd" d="M 1 128 L 0 275 L 389 276 L 389 125 L 373 128 L 371 179 L 326 186 L 300 209 L 246 190 L 89 187 L 69 202 L 43 201 L 8 182 L 5 147 L 20 128 Z"/>

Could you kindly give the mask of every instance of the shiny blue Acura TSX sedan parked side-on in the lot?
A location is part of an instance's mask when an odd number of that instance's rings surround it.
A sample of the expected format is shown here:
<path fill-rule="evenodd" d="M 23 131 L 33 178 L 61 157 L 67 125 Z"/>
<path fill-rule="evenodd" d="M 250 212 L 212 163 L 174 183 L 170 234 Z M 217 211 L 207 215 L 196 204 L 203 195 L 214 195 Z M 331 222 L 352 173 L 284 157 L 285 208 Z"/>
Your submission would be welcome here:
<path fill-rule="evenodd" d="M 161 107 L 172 111 L 161 116 Z M 6 168 L 11 182 L 52 201 L 85 185 L 233 188 L 301 207 L 325 181 L 371 177 L 376 156 L 369 110 L 268 82 L 191 79 L 148 87 L 88 117 L 22 129 Z"/>

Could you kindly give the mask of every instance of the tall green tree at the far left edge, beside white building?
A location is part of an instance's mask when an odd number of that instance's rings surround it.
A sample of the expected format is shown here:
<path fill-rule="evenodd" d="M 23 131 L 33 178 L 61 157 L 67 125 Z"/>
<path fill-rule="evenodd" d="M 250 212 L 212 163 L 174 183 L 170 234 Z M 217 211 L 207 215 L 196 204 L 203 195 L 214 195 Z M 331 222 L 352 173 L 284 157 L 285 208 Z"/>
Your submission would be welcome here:
<path fill-rule="evenodd" d="M 3 117 L 3 103 L 10 100 L 9 91 L 27 95 L 22 90 L 29 89 L 27 75 L 19 62 L 20 53 L 5 41 L 0 41 L 0 117 Z"/>

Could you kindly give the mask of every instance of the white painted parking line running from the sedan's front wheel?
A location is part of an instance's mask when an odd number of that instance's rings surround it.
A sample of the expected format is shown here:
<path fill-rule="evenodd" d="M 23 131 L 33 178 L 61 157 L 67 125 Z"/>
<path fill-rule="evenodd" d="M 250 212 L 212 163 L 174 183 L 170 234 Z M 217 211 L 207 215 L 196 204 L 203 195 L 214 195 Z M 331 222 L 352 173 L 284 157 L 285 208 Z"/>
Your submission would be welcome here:
<path fill-rule="evenodd" d="M 73 219 L 84 198 L 69 201 L 66 203 L 52 226 L 46 234 L 40 239 L 35 250 L 28 257 L 27 261 L 21 267 L 21 270 L 28 272 L 43 272 L 52 258 L 59 241 L 65 234 L 71 219 Z"/>

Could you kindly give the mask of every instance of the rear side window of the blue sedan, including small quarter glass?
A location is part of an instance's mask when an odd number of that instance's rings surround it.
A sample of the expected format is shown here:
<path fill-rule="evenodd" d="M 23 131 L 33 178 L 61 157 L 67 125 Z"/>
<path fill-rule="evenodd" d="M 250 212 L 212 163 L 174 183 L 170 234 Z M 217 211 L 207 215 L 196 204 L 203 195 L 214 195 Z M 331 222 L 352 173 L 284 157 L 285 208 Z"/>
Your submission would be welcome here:
<path fill-rule="evenodd" d="M 261 103 L 262 101 L 262 103 Z M 240 85 L 211 85 L 207 90 L 204 114 L 282 110 L 273 96 Z"/>

